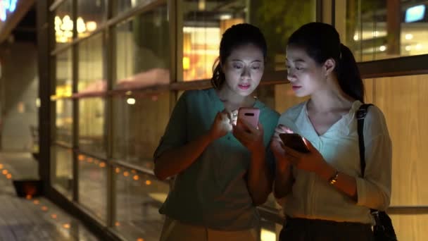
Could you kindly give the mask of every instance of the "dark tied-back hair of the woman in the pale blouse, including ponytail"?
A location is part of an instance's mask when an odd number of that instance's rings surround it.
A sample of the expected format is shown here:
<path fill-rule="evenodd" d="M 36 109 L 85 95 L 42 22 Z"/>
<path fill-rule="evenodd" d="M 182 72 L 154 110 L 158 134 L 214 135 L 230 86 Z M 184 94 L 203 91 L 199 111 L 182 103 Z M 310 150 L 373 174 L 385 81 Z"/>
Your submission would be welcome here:
<path fill-rule="evenodd" d="M 334 72 L 339 86 L 348 96 L 364 101 L 364 84 L 355 58 L 348 47 L 341 44 L 339 33 L 327 23 L 307 23 L 294 32 L 288 45 L 306 50 L 306 54 L 322 65 L 328 58 L 336 61 Z"/>

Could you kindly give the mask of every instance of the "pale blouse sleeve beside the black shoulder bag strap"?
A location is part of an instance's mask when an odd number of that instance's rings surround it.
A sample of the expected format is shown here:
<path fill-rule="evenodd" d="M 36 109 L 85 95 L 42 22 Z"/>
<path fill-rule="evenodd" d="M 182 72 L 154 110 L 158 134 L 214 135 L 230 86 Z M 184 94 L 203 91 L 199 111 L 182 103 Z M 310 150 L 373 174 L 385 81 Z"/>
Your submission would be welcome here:
<path fill-rule="evenodd" d="M 365 175 L 356 178 L 357 205 L 385 210 L 391 199 L 392 144 L 382 112 L 373 106 L 364 123 Z"/>

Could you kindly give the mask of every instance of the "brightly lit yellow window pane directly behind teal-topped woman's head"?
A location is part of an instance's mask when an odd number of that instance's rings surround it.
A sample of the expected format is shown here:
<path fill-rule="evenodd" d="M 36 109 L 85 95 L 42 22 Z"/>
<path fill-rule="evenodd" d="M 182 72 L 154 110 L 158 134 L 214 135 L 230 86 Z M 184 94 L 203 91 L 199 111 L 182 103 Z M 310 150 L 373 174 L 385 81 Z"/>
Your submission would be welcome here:
<path fill-rule="evenodd" d="M 209 79 L 221 35 L 246 20 L 246 1 L 180 1 L 183 9 L 183 80 Z"/>

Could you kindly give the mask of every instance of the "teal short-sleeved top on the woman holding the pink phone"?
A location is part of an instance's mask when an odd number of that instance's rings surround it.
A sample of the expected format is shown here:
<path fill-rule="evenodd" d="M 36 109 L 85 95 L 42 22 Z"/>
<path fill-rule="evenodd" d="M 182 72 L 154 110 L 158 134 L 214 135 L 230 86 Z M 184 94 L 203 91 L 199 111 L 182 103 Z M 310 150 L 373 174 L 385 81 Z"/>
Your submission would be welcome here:
<path fill-rule="evenodd" d="M 269 150 L 279 114 L 256 100 L 259 122 L 264 128 L 264 143 Z M 215 115 L 225 109 L 215 89 L 184 92 L 154 154 L 155 159 L 168 149 L 182 147 L 206 134 Z M 269 166 L 274 166 L 267 154 Z M 212 142 L 194 163 L 175 178 L 174 187 L 160 208 L 160 214 L 215 230 L 255 228 L 260 217 L 246 184 L 251 155 L 232 133 Z M 273 174 L 272 174 L 273 175 Z"/>

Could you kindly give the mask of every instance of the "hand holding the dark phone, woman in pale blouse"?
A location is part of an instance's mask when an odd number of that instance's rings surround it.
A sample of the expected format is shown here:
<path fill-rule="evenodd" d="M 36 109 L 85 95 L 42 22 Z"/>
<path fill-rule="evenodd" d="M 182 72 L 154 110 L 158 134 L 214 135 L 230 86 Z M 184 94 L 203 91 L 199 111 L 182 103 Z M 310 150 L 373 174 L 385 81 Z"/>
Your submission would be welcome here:
<path fill-rule="evenodd" d="M 303 138 L 303 141 L 305 142 L 306 147 L 308 147 L 309 153 L 298 152 L 289 147 L 285 147 L 284 144 L 282 144 L 285 149 L 285 157 L 287 161 L 298 169 L 314 173 L 320 172 L 327 162 L 320 152 L 318 152 L 318 150 L 313 147 L 306 138 Z"/>

